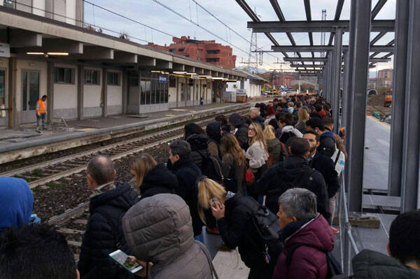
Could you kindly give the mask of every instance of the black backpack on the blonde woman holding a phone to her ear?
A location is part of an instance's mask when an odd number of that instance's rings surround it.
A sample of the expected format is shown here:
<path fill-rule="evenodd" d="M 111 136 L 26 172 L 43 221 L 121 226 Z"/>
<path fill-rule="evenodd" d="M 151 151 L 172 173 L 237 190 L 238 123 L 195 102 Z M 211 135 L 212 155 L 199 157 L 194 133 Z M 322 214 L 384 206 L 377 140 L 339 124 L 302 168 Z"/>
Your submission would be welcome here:
<path fill-rule="evenodd" d="M 256 245 L 255 241 L 252 239 L 249 240 L 250 243 L 255 245 L 255 248 L 258 250 L 261 250 L 260 252 L 262 252 L 263 257 L 265 257 L 267 264 L 272 261 L 275 263 L 277 257 L 283 250 L 283 244 L 279 237 L 281 231 L 279 218 L 268 208 L 260 205 L 260 203 L 255 201 L 251 196 L 244 196 L 242 198 L 242 203 L 251 211 L 253 225 L 255 231 L 257 231 L 260 236 L 262 249 L 258 248 L 258 245 Z"/>

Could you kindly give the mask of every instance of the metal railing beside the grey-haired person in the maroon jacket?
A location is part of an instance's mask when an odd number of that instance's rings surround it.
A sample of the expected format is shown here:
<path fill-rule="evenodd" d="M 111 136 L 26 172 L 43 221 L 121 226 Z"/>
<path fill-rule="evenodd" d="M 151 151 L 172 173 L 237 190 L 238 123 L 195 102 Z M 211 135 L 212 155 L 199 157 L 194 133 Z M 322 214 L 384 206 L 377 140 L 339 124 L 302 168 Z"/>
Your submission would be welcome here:
<path fill-rule="evenodd" d="M 341 188 L 338 196 L 339 252 L 342 271 L 347 276 L 352 275 L 351 259 L 358 254 L 358 248 L 351 234 L 349 211 L 347 207 L 346 185 L 344 176 L 340 177 Z"/>

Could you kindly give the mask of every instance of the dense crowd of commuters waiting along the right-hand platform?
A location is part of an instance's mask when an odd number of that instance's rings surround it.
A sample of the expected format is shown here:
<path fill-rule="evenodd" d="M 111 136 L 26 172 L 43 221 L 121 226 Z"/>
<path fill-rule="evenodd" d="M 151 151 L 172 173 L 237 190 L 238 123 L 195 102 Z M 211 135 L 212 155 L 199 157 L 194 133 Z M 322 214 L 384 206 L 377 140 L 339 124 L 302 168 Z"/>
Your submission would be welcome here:
<path fill-rule="evenodd" d="M 137 156 L 134 186 L 109 157 L 87 164 L 90 217 L 78 264 L 66 239 L 32 214 L 25 180 L 0 178 L 0 278 L 217 278 L 204 235 L 237 249 L 248 278 L 346 278 L 332 270 L 332 227 L 347 153 L 320 96 L 257 103 L 248 115 L 190 123 L 166 164 Z M 420 278 L 420 211 L 391 224 L 388 256 L 363 250 L 353 278 Z M 143 268 L 130 273 L 116 250 Z"/>

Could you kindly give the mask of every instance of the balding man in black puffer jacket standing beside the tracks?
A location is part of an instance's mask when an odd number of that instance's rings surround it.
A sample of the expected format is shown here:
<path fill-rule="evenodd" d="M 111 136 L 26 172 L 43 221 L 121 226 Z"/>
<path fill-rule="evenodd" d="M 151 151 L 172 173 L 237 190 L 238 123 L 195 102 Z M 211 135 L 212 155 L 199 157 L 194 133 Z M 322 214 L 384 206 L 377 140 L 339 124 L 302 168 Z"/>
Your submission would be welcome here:
<path fill-rule="evenodd" d="M 129 184 L 113 183 L 116 171 L 109 157 L 94 157 L 87 164 L 86 172 L 92 195 L 90 217 L 80 248 L 80 278 L 130 278 L 130 273 L 117 266 L 109 253 L 118 249 L 128 252 L 122 220 L 127 210 L 139 201 L 139 196 Z"/>

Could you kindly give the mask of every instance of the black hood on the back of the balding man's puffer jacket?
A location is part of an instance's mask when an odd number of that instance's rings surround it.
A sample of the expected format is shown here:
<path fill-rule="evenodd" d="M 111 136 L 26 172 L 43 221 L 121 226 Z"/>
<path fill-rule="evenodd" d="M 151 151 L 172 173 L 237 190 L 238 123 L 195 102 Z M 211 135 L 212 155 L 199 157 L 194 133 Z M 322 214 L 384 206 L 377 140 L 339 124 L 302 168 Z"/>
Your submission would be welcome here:
<path fill-rule="evenodd" d="M 113 206 L 123 210 L 130 209 L 139 201 L 139 195 L 132 189 L 128 183 L 116 185 L 116 189 L 99 194 L 90 199 L 90 212 L 99 206 Z"/>

